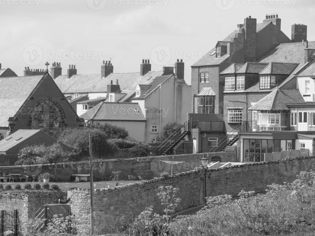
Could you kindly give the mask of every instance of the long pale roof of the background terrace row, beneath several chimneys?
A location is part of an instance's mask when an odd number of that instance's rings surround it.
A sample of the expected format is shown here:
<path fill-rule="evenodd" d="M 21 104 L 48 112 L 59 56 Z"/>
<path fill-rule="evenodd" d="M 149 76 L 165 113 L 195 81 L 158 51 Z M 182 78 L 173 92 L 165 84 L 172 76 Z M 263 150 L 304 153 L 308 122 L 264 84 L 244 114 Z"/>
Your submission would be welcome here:
<path fill-rule="evenodd" d="M 144 76 L 140 72 L 135 73 L 111 73 L 105 78 L 100 74 L 96 75 L 73 75 L 58 76 L 56 84 L 62 93 L 104 93 L 107 92 L 107 85 L 118 80 L 123 93 L 135 91 L 137 84 L 149 84 L 153 78 L 163 74 L 163 71 L 149 71 Z"/>

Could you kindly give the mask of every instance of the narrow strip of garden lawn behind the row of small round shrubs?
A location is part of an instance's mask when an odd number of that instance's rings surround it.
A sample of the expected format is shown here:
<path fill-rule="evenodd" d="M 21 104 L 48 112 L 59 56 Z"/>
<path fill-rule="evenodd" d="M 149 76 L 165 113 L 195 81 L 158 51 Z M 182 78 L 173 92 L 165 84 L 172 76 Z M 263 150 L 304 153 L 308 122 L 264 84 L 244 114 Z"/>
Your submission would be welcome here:
<path fill-rule="evenodd" d="M 123 186 L 123 185 L 127 185 L 127 184 L 132 184 L 132 183 L 137 183 L 138 181 L 135 180 L 121 180 L 118 181 L 118 186 Z M 34 187 L 35 184 L 37 184 L 38 182 L 26 182 L 26 183 L 30 183 L 32 188 Z M 26 184 L 25 182 L 22 183 L 1 183 L 3 185 L 3 188 L 5 187 L 5 185 L 7 184 L 11 184 L 12 189 L 14 189 L 14 186 L 16 184 L 20 184 L 21 189 L 24 190 L 24 185 Z M 116 187 L 116 181 L 96 181 L 94 182 L 95 187 L 93 186 L 93 188 L 114 188 Z M 43 186 L 43 182 L 39 183 L 41 186 Z M 63 191 L 69 190 L 69 188 L 90 188 L 90 182 L 49 182 L 49 185 L 51 186 L 52 184 L 57 184 L 59 186 L 59 188 Z M 94 185 L 93 184 L 93 185 Z M 43 187 L 42 187 L 43 188 Z"/>

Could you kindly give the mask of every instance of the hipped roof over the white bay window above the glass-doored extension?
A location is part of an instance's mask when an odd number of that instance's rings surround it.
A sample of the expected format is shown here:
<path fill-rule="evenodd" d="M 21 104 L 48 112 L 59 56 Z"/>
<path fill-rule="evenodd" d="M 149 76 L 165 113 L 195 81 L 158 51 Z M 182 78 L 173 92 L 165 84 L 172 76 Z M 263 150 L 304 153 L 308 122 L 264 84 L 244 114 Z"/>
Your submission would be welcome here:
<path fill-rule="evenodd" d="M 274 90 L 248 110 L 289 110 L 286 104 L 306 103 L 298 89 Z"/>

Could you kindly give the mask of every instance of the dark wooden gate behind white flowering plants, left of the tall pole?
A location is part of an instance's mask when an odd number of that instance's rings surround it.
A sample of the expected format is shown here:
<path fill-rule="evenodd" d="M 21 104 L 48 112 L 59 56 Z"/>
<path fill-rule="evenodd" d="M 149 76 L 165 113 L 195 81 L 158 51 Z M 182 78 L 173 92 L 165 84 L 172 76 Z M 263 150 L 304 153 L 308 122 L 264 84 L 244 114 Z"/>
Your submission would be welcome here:
<path fill-rule="evenodd" d="M 67 204 L 45 204 L 43 206 L 38 206 L 36 208 L 35 218 L 46 219 L 43 222 L 41 232 L 45 230 L 47 224 L 51 221 L 54 215 L 58 215 L 58 217 L 60 217 L 60 214 L 64 218 L 66 218 L 66 216 L 70 216 L 70 206 Z"/>

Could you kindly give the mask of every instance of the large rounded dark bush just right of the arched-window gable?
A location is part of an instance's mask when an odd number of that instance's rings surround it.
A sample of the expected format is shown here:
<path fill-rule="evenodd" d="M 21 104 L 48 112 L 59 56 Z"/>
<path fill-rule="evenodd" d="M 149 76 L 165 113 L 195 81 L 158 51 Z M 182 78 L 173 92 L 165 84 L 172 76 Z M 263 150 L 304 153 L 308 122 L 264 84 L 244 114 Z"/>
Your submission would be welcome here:
<path fill-rule="evenodd" d="M 59 137 L 59 141 L 72 147 L 80 156 L 89 155 L 89 135 L 92 136 L 93 154 L 101 157 L 106 153 L 113 153 L 117 150 L 114 143 L 107 140 L 108 136 L 100 129 L 83 130 L 78 128 L 68 128 Z"/>

